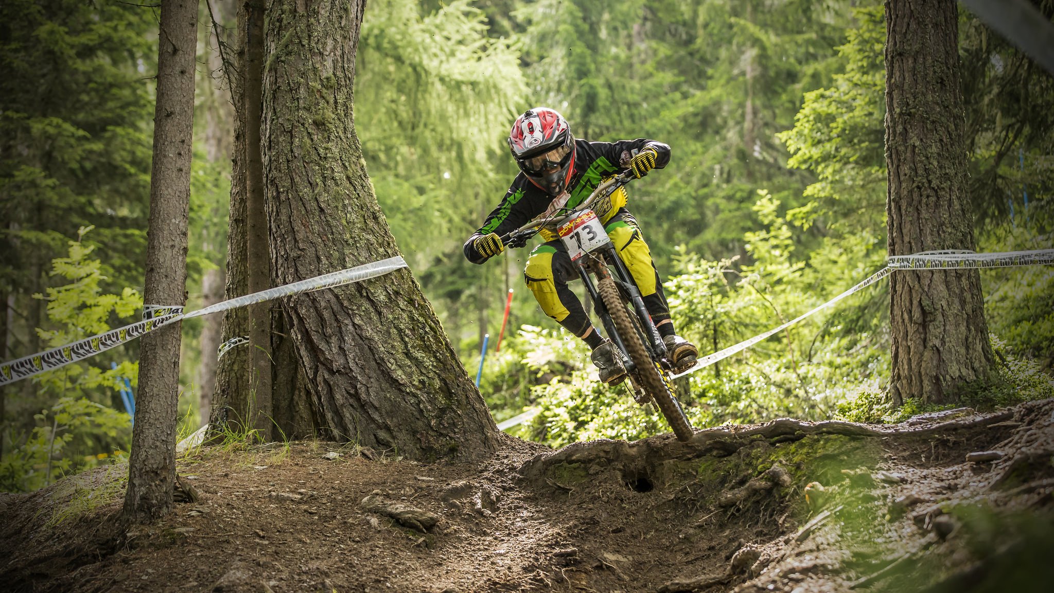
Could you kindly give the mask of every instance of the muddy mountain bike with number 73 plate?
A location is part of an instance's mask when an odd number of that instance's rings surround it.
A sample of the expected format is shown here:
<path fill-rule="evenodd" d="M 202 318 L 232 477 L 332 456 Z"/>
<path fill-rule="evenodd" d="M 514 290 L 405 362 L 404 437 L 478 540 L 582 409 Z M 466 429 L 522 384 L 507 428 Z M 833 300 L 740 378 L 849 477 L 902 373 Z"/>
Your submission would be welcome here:
<path fill-rule="evenodd" d="M 590 209 L 597 200 L 609 197 L 635 178 L 630 171 L 616 175 L 597 186 L 575 208 L 560 208 L 543 214 L 501 238 L 503 244 L 518 247 L 543 228 L 555 232 L 596 304 L 594 310 L 604 331 L 622 355 L 633 399 L 641 405 L 653 401 L 677 438 L 687 441 L 692 435 L 691 423 L 674 395 L 669 377 L 675 368 L 666 345 L 644 306 L 632 274 L 619 259 L 597 213 Z"/>

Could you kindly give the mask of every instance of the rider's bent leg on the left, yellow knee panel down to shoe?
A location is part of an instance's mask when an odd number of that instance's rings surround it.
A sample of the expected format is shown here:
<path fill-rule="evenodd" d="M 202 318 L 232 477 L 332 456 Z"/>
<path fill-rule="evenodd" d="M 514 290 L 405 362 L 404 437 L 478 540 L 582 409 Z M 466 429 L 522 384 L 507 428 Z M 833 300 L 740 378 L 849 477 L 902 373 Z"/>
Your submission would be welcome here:
<path fill-rule="evenodd" d="M 578 273 L 560 241 L 535 247 L 524 270 L 527 287 L 545 314 L 589 344 L 593 350 L 590 358 L 600 369 L 601 381 L 617 382 L 625 375 L 625 369 L 619 357 L 614 356 L 611 343 L 593 328 L 579 298 L 568 288 L 567 282 L 575 278 Z"/>

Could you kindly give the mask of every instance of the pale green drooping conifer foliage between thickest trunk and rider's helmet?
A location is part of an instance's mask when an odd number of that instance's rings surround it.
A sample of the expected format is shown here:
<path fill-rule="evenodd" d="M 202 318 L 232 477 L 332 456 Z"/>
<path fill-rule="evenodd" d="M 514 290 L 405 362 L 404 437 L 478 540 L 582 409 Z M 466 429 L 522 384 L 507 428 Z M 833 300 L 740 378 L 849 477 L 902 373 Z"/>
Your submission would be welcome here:
<path fill-rule="evenodd" d="M 425 16 L 382 0 L 357 56 L 355 112 L 369 122 L 358 131 L 377 200 L 403 253 L 430 264 L 504 192 L 495 157 L 523 93 L 516 54 L 487 37 L 465 0 Z"/>

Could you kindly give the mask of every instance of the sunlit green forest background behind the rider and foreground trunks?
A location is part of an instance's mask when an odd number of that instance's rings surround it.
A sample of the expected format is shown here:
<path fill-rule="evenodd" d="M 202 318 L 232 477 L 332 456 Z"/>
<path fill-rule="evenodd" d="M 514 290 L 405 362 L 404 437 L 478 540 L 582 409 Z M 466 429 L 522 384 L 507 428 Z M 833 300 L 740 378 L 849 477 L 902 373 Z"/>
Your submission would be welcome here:
<path fill-rule="evenodd" d="M 1048 18 L 1054 1 L 1035 2 Z M 222 299 L 234 108 L 231 0 L 203 3 L 191 194 L 190 308 Z M 115 0 L 0 6 L 0 301 L 11 360 L 129 323 L 142 305 L 157 12 Z M 215 26 L 213 26 L 215 24 Z M 759 333 L 881 268 L 885 28 L 873 0 L 373 0 L 356 64 L 356 123 L 398 247 L 499 421 L 560 446 L 663 432 L 539 310 L 526 250 L 485 266 L 462 242 L 516 169 L 516 114 L 558 109 L 578 137 L 648 137 L 670 165 L 629 188 L 680 330 L 704 351 Z M 227 46 L 227 50 L 230 47 Z M 980 251 L 1049 248 L 1054 80 L 968 13 L 959 49 Z M 1054 396 L 1054 279 L 981 274 L 1000 360 L 961 399 Z M 494 352 L 505 295 L 508 329 Z M 895 421 L 887 286 L 879 284 L 696 372 L 696 426 L 780 416 Z M 219 315 L 183 323 L 181 433 L 208 418 Z M 135 342 L 3 387 L 0 490 L 121 459 Z M 125 380 L 128 381 L 125 383 Z"/>

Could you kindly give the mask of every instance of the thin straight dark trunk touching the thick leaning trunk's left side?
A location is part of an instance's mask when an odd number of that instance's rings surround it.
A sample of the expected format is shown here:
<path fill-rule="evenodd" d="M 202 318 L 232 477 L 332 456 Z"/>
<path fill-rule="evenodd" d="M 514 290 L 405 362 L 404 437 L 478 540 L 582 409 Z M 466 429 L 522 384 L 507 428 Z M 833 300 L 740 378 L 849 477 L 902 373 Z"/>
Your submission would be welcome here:
<path fill-rule="evenodd" d="M 246 222 L 249 245 L 249 292 L 271 288 L 264 164 L 260 157 L 260 101 L 264 77 L 264 0 L 246 2 L 246 59 L 242 80 L 246 113 Z M 271 440 L 274 415 L 271 394 L 271 303 L 249 307 L 251 418 L 261 440 Z"/>

